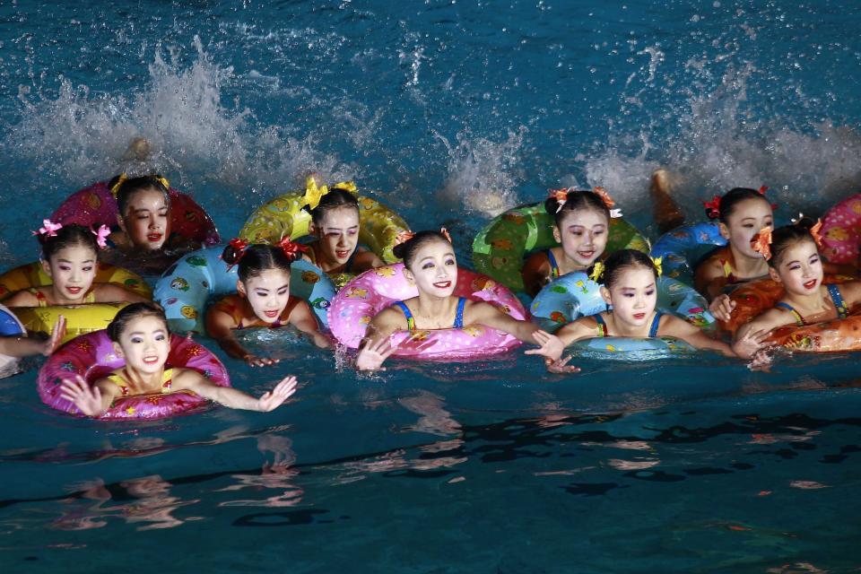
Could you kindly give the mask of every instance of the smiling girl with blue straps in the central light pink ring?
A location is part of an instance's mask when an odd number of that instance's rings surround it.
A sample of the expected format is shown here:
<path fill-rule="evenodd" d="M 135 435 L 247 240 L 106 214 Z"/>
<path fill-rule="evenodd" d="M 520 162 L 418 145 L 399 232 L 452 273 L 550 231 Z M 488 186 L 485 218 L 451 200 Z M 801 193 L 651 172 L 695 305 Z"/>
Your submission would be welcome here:
<path fill-rule="evenodd" d="M 404 260 L 404 274 L 415 283 L 418 297 L 397 301 L 370 321 L 356 357 L 356 369 L 379 369 L 395 351 L 389 335 L 395 331 L 461 328 L 480 324 L 537 343 L 536 334 L 550 336 L 528 321 L 506 315 L 490 303 L 454 297 L 457 259 L 448 232 L 419 231 L 404 234 L 395 256 Z"/>

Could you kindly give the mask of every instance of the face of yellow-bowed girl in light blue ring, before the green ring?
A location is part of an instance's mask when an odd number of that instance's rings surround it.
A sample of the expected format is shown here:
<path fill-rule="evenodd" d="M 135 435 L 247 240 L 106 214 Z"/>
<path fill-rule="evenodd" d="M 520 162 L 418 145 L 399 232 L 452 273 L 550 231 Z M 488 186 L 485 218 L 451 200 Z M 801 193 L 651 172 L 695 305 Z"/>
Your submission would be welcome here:
<path fill-rule="evenodd" d="M 626 267 L 608 289 L 601 288 L 604 301 L 613 305 L 613 317 L 629 326 L 645 326 L 655 315 L 655 272 L 644 266 Z"/>

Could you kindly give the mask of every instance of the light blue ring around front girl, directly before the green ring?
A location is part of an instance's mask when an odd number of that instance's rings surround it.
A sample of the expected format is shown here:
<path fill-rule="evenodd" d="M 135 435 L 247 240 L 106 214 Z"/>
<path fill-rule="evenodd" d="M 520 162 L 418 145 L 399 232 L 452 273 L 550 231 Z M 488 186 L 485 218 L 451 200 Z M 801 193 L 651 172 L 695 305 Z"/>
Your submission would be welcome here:
<path fill-rule="evenodd" d="M 561 326 L 607 309 L 601 285 L 578 271 L 562 275 L 546 285 L 529 309 L 533 320 L 545 331 L 555 333 Z M 715 324 L 709 304 L 689 285 L 661 275 L 657 279 L 657 309 L 688 321 L 700 328 Z"/>

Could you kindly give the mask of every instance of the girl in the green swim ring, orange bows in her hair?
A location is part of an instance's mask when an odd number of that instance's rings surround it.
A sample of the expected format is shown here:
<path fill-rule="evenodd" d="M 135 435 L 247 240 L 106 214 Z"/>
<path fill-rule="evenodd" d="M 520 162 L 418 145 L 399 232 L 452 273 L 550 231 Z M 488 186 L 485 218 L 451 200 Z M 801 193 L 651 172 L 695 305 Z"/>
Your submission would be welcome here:
<path fill-rule="evenodd" d="M 613 204 L 602 187 L 551 190 L 544 209 L 555 219 L 553 239 L 560 246 L 526 259 L 522 274 L 527 293 L 535 297 L 553 279 L 586 270 L 604 255 Z"/>

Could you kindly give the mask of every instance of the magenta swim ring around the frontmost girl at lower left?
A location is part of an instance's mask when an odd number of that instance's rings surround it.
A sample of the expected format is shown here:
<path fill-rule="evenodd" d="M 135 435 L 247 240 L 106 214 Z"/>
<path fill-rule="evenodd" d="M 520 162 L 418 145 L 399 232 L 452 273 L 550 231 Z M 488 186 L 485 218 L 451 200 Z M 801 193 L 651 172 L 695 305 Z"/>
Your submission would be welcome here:
<path fill-rule="evenodd" d="M 114 354 L 113 346 L 105 330 L 95 331 L 69 341 L 39 370 L 36 386 L 42 402 L 58 411 L 81 414 L 77 407 L 60 395 L 60 385 L 64 378 L 80 374 L 92 383 L 106 377 L 110 371 L 119 369 L 124 362 Z M 170 336 L 169 367 L 185 367 L 198 370 L 220 387 L 230 387 L 230 378 L 212 352 L 196 344 L 191 339 L 177 335 Z M 102 420 L 153 420 L 163 419 L 208 404 L 209 401 L 194 393 L 178 391 L 159 395 L 120 397 L 110 405 L 108 411 L 100 416 Z"/>

